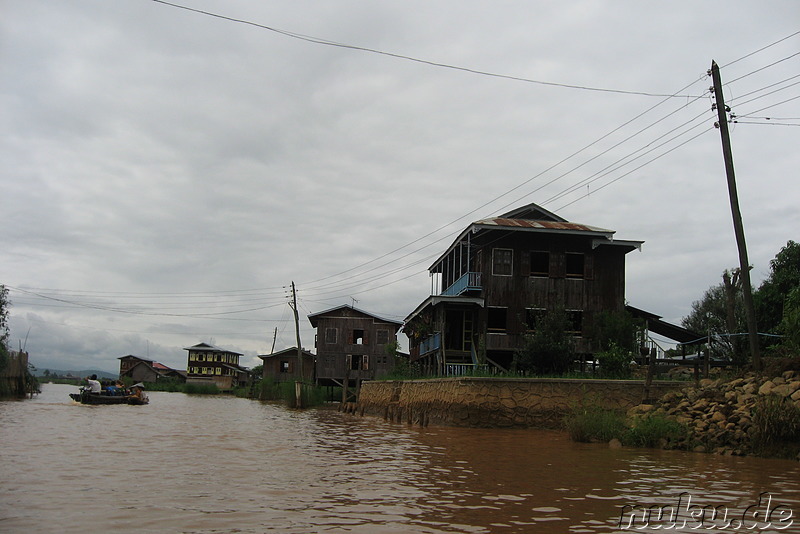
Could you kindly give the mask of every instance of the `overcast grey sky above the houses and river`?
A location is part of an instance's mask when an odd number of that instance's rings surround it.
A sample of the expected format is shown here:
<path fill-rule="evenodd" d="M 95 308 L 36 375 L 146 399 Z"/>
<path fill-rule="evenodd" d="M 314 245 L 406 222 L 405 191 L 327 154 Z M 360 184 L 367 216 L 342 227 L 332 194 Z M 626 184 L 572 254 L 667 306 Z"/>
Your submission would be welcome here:
<path fill-rule="evenodd" d="M 176 1 L 227 18 L 0 0 L 0 283 L 37 367 L 255 365 L 292 281 L 307 348 L 340 304 L 402 320 L 530 202 L 643 240 L 627 300 L 678 322 L 738 264 L 712 59 L 754 284 L 800 240 L 796 0 Z"/>

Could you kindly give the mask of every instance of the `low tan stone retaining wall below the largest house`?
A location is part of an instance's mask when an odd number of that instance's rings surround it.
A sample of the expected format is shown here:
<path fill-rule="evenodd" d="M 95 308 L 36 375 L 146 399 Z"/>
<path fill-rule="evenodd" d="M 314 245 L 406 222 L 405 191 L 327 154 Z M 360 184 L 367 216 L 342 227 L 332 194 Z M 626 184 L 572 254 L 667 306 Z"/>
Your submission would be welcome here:
<path fill-rule="evenodd" d="M 686 386 L 653 382 L 648 398 Z M 641 380 L 442 378 L 373 381 L 361 386 L 351 411 L 412 424 L 467 427 L 560 426 L 581 403 L 628 409 L 642 402 Z"/>

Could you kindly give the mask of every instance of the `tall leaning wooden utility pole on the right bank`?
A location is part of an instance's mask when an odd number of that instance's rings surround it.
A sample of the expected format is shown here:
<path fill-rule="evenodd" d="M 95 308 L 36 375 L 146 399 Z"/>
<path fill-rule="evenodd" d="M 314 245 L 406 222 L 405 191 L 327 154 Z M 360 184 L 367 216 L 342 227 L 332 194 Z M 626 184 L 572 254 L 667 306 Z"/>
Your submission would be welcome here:
<path fill-rule="evenodd" d="M 744 310 L 747 315 L 747 331 L 750 339 L 750 353 L 753 356 L 753 367 L 761 369 L 761 350 L 758 347 L 758 327 L 756 326 L 756 313 L 753 307 L 753 290 L 750 285 L 750 262 L 747 259 L 747 243 L 744 239 L 744 225 L 742 213 L 739 211 L 739 194 L 736 192 L 736 175 L 733 171 L 733 151 L 731 150 L 731 137 L 728 132 L 728 108 L 722 93 L 722 78 L 719 75 L 719 66 L 716 61 L 711 61 L 709 72 L 714 81 L 714 97 L 717 100 L 717 127 L 722 136 L 722 155 L 725 158 L 725 173 L 728 176 L 728 196 L 731 201 L 731 215 L 733 216 L 733 230 L 736 234 L 736 244 L 739 247 L 739 273 L 742 280 L 742 296 L 744 297 Z"/>

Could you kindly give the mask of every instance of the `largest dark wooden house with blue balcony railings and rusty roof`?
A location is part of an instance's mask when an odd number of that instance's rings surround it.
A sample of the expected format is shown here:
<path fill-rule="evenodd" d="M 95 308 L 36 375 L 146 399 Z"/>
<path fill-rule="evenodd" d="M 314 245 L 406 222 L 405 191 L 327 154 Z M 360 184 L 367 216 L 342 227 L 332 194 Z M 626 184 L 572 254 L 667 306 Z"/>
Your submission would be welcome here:
<path fill-rule="evenodd" d="M 625 255 L 642 241 L 569 222 L 536 204 L 470 224 L 429 267 L 431 296 L 405 319 L 411 361 L 428 373 L 508 369 L 537 317 L 564 310 L 576 351 L 594 316 L 625 307 Z"/>

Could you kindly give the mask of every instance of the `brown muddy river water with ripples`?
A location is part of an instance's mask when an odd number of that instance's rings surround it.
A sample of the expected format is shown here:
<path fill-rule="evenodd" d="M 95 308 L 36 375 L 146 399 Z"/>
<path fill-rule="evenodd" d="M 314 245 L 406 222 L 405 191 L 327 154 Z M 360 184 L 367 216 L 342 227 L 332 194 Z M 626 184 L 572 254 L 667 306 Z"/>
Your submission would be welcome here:
<path fill-rule="evenodd" d="M 76 389 L 0 402 L 0 532 L 800 532 L 797 462 Z"/>

